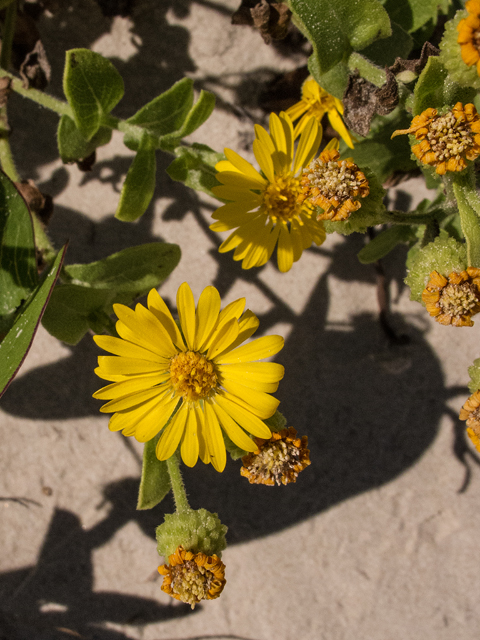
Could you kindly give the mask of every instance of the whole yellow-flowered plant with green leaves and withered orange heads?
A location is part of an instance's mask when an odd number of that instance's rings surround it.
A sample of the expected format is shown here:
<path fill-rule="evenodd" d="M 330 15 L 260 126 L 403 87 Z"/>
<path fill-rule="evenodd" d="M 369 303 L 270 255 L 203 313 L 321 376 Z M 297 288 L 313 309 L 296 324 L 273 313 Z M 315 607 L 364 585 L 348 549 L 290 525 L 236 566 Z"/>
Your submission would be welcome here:
<path fill-rule="evenodd" d="M 17 173 L 8 96 L 18 93 L 58 115 L 65 163 L 88 168 L 113 131 L 123 134 L 135 152 L 115 213 L 126 224 L 153 197 L 160 150 L 172 156 L 173 180 L 218 201 L 210 229 L 228 232 L 219 251 L 233 251 L 244 269 L 275 254 L 287 272 L 326 234 L 368 231 L 360 262 L 377 263 L 407 245 L 411 299 L 455 331 L 472 327 L 480 312 L 480 2 L 405 0 L 394 20 L 390 3 L 379 0 L 336 0 L 335 11 L 330 0 L 289 0 L 280 13 L 275 3 L 275 15 L 291 17 L 310 41 L 310 75 L 295 104 L 270 113 L 268 127 L 254 126 L 255 165 L 232 149 L 185 141 L 215 104 L 207 91 L 195 100 L 188 78 L 120 119 L 112 110 L 124 93 L 122 77 L 98 53 L 67 51 L 64 98 L 44 91 L 49 70 L 38 51 L 34 73 L 22 66 L 19 76 L 11 64 L 19 4 L 0 0 L 0 392 L 40 322 L 69 344 L 95 334 L 108 353 L 96 369 L 107 382 L 95 393 L 106 401 L 100 411 L 113 414 L 112 431 L 144 443 L 138 508 L 157 505 L 170 491 L 175 499 L 175 513 L 157 529 L 162 589 L 194 607 L 224 588 L 226 527 L 216 514 L 191 509 L 180 459 L 222 472 L 229 454 L 242 459 L 250 483 L 265 485 L 295 482 L 310 465 L 307 437 L 287 425 L 272 395 L 283 367 L 263 361 L 283 339 L 250 341 L 256 316 L 244 299 L 222 308 L 213 286 L 195 301 L 182 284 L 178 317 L 172 314 L 157 289 L 180 260 L 177 245 L 155 242 L 64 264 L 67 247 L 52 246 L 34 206 L 38 192 Z M 262 27 L 265 39 L 284 35 L 273 22 Z M 434 200 L 409 212 L 387 210 L 384 186 L 414 174 L 437 190 Z M 147 306 L 130 306 L 144 295 Z M 460 418 L 480 451 L 480 359 L 469 371 L 472 395 Z"/>

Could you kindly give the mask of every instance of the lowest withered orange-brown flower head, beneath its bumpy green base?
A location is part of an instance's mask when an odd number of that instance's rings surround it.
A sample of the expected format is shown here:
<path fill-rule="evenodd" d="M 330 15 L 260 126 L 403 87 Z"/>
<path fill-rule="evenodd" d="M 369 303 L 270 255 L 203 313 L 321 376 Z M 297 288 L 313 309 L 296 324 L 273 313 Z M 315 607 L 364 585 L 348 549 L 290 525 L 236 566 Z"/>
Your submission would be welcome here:
<path fill-rule="evenodd" d="M 162 591 L 191 605 L 192 609 L 200 600 L 218 598 L 227 582 L 225 565 L 215 554 L 207 556 L 178 547 L 168 557 L 168 563 L 158 567 L 164 576 Z"/>

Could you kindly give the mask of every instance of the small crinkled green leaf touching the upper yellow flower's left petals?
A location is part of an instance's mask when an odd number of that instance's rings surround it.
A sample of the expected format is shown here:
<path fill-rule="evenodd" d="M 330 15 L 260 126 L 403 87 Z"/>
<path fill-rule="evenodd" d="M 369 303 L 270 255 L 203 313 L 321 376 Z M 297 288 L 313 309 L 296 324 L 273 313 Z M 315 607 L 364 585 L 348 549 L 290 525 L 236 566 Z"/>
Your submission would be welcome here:
<path fill-rule="evenodd" d="M 220 184 L 215 177 L 215 165 L 224 160 L 225 156 L 216 153 L 205 144 L 196 142 L 189 147 L 177 147 L 175 153 L 178 157 L 167 168 L 172 180 L 183 182 L 187 187 L 215 197 L 211 189 Z"/>

